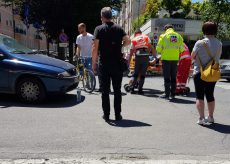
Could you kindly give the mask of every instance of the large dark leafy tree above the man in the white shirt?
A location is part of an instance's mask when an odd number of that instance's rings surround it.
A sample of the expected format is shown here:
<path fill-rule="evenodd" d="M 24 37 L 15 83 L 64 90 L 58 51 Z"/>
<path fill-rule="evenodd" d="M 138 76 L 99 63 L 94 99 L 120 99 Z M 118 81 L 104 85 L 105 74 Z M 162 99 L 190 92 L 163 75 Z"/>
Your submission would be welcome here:
<path fill-rule="evenodd" d="M 13 0 L 8 0 L 13 1 Z M 17 1 L 17 0 L 16 0 Z M 18 0 L 19 1 L 19 0 Z M 22 19 L 25 19 L 24 5 L 29 5 L 29 23 L 39 23 L 47 36 L 47 41 L 58 40 L 61 29 L 69 36 L 70 61 L 73 56 L 73 43 L 77 34 L 77 24 L 84 22 L 89 32 L 100 24 L 100 10 L 104 6 L 119 9 L 123 0 L 20 0 Z"/>

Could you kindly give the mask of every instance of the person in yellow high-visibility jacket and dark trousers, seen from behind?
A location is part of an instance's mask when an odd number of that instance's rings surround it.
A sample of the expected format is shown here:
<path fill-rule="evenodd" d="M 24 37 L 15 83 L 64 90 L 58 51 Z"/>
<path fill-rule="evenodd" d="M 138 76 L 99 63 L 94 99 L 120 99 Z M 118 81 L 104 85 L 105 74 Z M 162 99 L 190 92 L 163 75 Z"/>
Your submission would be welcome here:
<path fill-rule="evenodd" d="M 165 33 L 159 37 L 156 50 L 161 54 L 165 93 L 161 98 L 174 99 L 176 92 L 176 74 L 179 54 L 184 51 L 184 42 L 180 34 L 174 31 L 171 24 L 164 27 Z"/>

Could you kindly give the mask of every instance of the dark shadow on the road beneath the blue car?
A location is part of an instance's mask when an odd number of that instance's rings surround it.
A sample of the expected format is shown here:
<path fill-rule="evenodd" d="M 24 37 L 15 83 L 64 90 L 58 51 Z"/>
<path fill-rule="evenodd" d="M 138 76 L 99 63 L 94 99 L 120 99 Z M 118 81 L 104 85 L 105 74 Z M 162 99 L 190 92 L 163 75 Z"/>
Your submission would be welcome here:
<path fill-rule="evenodd" d="M 84 96 L 82 96 L 81 102 L 77 102 L 76 95 L 65 94 L 49 96 L 47 100 L 39 104 L 28 104 L 21 102 L 15 95 L 0 94 L 0 109 L 9 107 L 67 108 L 78 105 L 84 101 Z"/>

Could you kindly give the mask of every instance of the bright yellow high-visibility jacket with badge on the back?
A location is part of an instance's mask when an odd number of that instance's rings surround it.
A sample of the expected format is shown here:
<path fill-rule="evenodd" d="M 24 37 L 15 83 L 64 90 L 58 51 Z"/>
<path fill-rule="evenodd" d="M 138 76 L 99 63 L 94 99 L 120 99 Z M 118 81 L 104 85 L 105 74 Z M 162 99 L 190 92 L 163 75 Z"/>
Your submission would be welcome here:
<path fill-rule="evenodd" d="M 179 54 L 184 51 L 183 38 L 170 28 L 160 36 L 156 50 L 161 54 L 161 60 L 178 61 Z"/>

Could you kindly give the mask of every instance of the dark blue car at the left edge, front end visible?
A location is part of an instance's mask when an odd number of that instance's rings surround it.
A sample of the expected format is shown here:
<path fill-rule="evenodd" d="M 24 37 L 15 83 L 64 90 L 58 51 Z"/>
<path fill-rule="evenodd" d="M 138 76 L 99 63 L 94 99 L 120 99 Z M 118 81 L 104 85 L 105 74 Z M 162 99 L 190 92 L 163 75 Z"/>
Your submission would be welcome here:
<path fill-rule="evenodd" d="M 0 93 L 16 94 L 29 103 L 78 86 L 75 66 L 35 54 L 11 37 L 0 34 Z"/>

